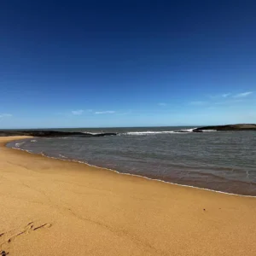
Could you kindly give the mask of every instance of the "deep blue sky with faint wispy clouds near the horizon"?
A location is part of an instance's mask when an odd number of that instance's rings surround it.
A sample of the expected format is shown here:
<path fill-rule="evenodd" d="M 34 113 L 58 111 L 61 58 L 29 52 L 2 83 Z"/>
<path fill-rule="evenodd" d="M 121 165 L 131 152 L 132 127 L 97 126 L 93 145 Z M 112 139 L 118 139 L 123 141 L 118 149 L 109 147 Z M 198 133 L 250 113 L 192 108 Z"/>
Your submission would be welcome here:
<path fill-rule="evenodd" d="M 255 9 L 2 0 L 0 129 L 256 123 Z"/>

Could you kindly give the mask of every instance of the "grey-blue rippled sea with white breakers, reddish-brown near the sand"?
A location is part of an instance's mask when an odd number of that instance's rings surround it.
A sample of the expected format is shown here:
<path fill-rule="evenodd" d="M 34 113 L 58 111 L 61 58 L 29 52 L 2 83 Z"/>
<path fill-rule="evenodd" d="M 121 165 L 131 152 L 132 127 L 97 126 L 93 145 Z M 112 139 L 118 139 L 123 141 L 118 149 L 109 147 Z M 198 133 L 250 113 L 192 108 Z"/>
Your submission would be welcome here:
<path fill-rule="evenodd" d="M 7 146 L 169 183 L 255 196 L 256 132 L 174 132 L 192 128 L 195 127 L 55 129 L 119 134 L 34 137 Z"/>

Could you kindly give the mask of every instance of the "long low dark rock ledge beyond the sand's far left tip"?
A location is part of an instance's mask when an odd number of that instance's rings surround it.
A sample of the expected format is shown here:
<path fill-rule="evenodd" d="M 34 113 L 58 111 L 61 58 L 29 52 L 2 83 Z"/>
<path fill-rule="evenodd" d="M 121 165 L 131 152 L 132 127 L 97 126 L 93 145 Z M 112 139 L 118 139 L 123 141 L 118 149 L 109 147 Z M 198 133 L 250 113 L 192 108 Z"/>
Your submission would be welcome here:
<path fill-rule="evenodd" d="M 32 136 L 32 137 L 103 137 L 113 136 L 117 133 L 84 133 L 73 131 L 48 131 L 48 130 L 4 130 L 0 131 L 0 137 L 3 136 Z"/>

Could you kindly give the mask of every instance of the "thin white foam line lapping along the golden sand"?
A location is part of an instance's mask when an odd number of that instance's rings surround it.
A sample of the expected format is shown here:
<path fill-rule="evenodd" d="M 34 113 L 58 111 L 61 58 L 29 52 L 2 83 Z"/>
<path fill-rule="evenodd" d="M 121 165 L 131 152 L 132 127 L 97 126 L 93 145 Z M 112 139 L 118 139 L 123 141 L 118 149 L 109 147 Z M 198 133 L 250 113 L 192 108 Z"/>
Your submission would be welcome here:
<path fill-rule="evenodd" d="M 37 153 L 33 153 L 33 152 L 30 151 L 30 150 L 26 150 L 26 149 L 22 149 L 22 148 L 12 148 L 12 149 L 25 151 L 25 152 L 27 152 L 27 153 L 29 153 L 29 154 L 37 154 Z M 106 167 L 94 166 L 94 165 L 91 165 L 91 164 L 89 164 L 89 163 L 87 163 L 87 162 L 84 162 L 84 161 L 79 161 L 79 160 L 67 160 L 67 159 L 61 159 L 61 158 L 57 158 L 57 157 L 53 157 L 53 156 L 48 156 L 48 155 L 45 155 L 43 152 L 42 152 L 41 154 L 38 154 L 38 155 L 42 155 L 42 156 L 44 156 L 44 157 L 51 158 L 51 159 L 55 159 L 55 160 L 62 160 L 62 161 L 68 161 L 68 162 L 75 162 L 75 163 L 79 163 L 79 164 L 82 164 L 82 165 L 92 166 L 92 167 L 100 168 L 100 169 L 103 169 L 103 170 L 107 170 L 107 171 L 111 171 L 111 172 L 116 172 L 116 173 L 118 173 L 118 174 L 120 174 L 120 175 L 129 175 L 129 176 L 134 176 L 134 177 L 143 177 L 143 178 L 146 178 L 146 179 L 151 180 L 151 181 L 157 181 L 157 182 L 161 182 L 161 183 L 167 183 L 167 184 L 172 184 L 172 185 L 181 186 L 181 187 L 187 187 L 187 188 L 192 188 L 192 189 L 207 190 L 207 191 L 211 191 L 211 192 L 215 192 L 215 193 L 219 193 L 219 194 L 224 194 L 224 195 L 236 195 L 236 196 L 241 196 L 241 197 L 252 197 L 252 198 L 256 198 L 256 195 L 239 195 L 239 194 L 228 193 L 228 192 L 219 191 L 219 190 L 199 188 L 199 187 L 195 187 L 195 186 L 192 186 L 192 185 L 184 185 L 184 184 L 179 184 L 179 183 L 166 182 L 166 181 L 161 180 L 161 179 L 158 179 L 158 178 L 151 178 L 151 177 L 146 177 L 146 176 L 142 176 L 142 175 L 138 175 L 138 174 L 132 174 L 132 173 L 128 173 L 128 172 L 118 172 L 118 171 L 116 171 L 116 170 L 109 169 L 109 168 L 106 168 Z"/>

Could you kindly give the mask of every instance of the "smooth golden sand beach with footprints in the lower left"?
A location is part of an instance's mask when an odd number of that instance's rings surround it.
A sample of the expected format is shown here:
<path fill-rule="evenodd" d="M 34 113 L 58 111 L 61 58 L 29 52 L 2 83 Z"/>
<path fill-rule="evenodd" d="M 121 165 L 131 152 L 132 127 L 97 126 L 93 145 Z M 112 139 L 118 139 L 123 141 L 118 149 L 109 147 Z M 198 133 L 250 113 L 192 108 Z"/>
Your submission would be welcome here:
<path fill-rule="evenodd" d="M 150 181 L 4 147 L 17 138 L 0 138 L 0 252 L 256 255 L 256 198 Z"/>

